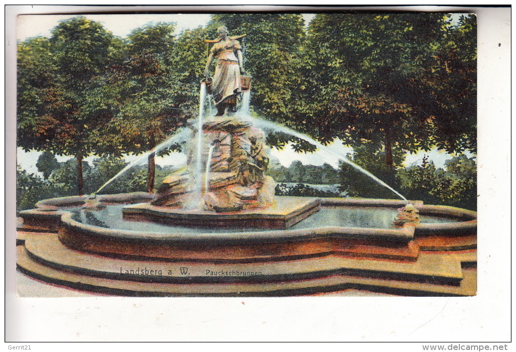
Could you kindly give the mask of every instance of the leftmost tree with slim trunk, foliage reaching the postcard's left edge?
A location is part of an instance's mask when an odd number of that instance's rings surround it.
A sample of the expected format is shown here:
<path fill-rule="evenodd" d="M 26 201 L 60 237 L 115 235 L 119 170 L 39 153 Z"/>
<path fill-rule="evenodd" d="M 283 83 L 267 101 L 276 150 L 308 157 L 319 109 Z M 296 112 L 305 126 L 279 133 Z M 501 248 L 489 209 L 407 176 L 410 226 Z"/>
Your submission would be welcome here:
<path fill-rule="evenodd" d="M 18 47 L 18 145 L 74 155 L 79 195 L 84 193 L 83 157 L 98 147 L 91 135 L 110 118 L 88 109 L 86 92 L 91 79 L 115 58 L 116 45 L 100 23 L 76 17 L 57 25 L 50 40 L 32 39 Z"/>

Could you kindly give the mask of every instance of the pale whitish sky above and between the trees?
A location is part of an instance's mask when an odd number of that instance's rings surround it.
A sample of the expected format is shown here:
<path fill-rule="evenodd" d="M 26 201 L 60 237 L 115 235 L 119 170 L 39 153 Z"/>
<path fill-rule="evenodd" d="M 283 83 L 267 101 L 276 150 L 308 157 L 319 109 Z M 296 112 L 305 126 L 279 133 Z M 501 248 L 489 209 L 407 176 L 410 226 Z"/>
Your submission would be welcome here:
<path fill-rule="evenodd" d="M 310 21 L 315 17 L 313 13 L 302 14 L 305 21 L 305 25 L 308 26 Z M 458 19 L 460 14 L 455 16 Z M 64 14 L 64 15 L 20 15 L 17 20 L 17 35 L 18 41 L 23 41 L 28 38 L 45 36 L 50 37 L 52 29 L 63 20 L 68 20 L 75 17 L 76 14 Z M 102 25 L 111 31 L 116 36 L 126 37 L 131 33 L 132 30 L 146 25 L 150 22 L 175 22 L 176 23 L 176 34 L 180 34 L 184 29 L 193 29 L 199 26 L 206 26 L 210 20 L 209 14 L 86 14 L 86 18 L 102 23 Z M 336 140 L 332 145 L 328 147 L 337 153 L 346 155 L 352 150 L 342 145 L 340 140 Z M 31 151 L 24 152 L 21 148 L 17 149 L 17 162 L 30 173 L 37 173 L 36 162 L 41 152 Z M 271 152 L 273 157 L 279 159 L 280 163 L 288 167 L 293 161 L 299 160 L 303 164 L 322 165 L 329 163 L 332 166 L 337 166 L 338 161 L 335 157 L 328 153 L 314 153 L 314 154 L 299 154 L 290 148 L 285 148 L 282 151 L 273 150 Z M 421 163 L 423 156 L 427 155 L 430 161 L 436 165 L 436 167 L 445 168 L 445 162 L 451 157 L 450 154 L 444 153 L 437 149 L 431 152 L 418 152 L 416 154 L 407 154 L 405 166 L 410 166 L 413 163 Z M 471 153 L 466 154 L 471 156 Z M 322 156 L 322 157 L 321 157 Z M 70 159 L 69 156 L 56 156 L 59 162 Z M 94 157 L 86 158 L 90 164 Z M 132 162 L 135 159 L 134 156 L 127 156 L 126 161 Z M 166 159 L 157 159 L 156 164 L 167 165 L 172 161 L 182 162 L 183 157 L 179 155 L 171 155 Z"/>

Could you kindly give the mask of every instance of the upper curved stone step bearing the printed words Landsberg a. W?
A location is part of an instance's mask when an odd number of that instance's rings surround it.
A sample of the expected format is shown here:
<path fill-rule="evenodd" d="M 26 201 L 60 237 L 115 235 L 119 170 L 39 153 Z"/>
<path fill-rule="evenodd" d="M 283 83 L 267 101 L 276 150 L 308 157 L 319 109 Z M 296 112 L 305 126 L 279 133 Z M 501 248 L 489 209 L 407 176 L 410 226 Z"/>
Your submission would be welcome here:
<path fill-rule="evenodd" d="M 416 262 L 373 260 L 344 257 L 342 255 L 325 255 L 324 257 L 302 260 L 260 263 L 124 260 L 70 249 L 59 242 L 55 234 L 28 237 L 25 241 L 25 248 L 31 258 L 58 270 L 128 281 L 170 283 L 274 282 L 305 280 L 336 274 L 395 278 L 448 285 L 458 285 L 462 280 L 461 263 L 457 260 L 457 257 L 432 253 L 421 254 Z M 181 274 L 182 267 L 188 268 L 187 275 Z M 133 270 L 132 274 L 131 270 Z M 140 270 L 143 273 L 140 273 Z M 235 275 L 213 275 L 221 272 L 235 273 Z M 260 275 L 251 275 L 251 273 L 260 273 Z"/>

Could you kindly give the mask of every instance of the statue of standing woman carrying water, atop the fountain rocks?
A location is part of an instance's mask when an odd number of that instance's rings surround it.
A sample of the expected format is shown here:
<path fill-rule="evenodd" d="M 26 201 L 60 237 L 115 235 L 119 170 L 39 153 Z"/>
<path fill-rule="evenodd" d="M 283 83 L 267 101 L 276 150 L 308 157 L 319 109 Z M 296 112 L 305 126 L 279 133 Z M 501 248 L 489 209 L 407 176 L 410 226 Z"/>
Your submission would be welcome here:
<path fill-rule="evenodd" d="M 241 93 L 240 74 L 245 74 L 245 71 L 240 43 L 234 37 L 228 36 L 226 26 L 220 26 L 217 34 L 219 37 L 209 52 L 204 73 L 208 77 L 209 65 L 215 57 L 217 66 L 213 77 L 212 96 L 217 106 L 217 116 L 222 116 L 227 107 L 232 112 L 236 110 L 236 97 Z"/>

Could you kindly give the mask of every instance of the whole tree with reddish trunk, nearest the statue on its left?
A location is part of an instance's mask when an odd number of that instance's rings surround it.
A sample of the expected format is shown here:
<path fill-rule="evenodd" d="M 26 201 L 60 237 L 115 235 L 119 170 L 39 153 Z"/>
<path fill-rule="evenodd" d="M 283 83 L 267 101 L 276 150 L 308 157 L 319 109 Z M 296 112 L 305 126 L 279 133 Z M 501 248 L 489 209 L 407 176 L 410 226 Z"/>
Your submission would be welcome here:
<path fill-rule="evenodd" d="M 102 155 L 152 150 L 192 117 L 189 108 L 198 102 L 190 97 L 189 82 L 182 81 L 189 74 L 174 65 L 178 57 L 174 29 L 171 23 L 157 23 L 133 30 L 123 51 L 123 62 L 95 80 L 90 92 L 92 108 L 102 102 L 112 114 L 92 136 L 105 151 Z M 199 81 L 197 89 L 198 85 Z M 148 159 L 149 192 L 154 188 L 154 157 L 151 153 Z"/>

